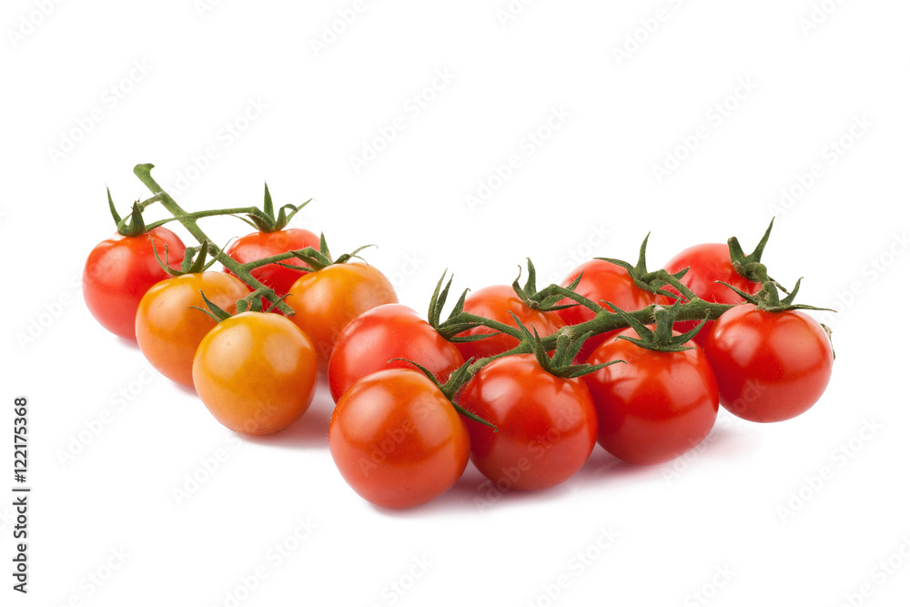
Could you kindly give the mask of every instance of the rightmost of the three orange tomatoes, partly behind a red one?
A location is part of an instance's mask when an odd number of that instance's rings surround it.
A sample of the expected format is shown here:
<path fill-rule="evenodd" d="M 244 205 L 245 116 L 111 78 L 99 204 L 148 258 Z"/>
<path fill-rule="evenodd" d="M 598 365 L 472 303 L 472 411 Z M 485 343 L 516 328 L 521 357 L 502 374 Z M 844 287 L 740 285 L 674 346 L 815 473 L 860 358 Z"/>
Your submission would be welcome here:
<path fill-rule="evenodd" d="M 398 303 L 395 289 L 378 269 L 362 263 L 333 264 L 304 274 L 285 299 L 294 321 L 316 345 L 325 370 L 341 329 L 368 309 Z"/>

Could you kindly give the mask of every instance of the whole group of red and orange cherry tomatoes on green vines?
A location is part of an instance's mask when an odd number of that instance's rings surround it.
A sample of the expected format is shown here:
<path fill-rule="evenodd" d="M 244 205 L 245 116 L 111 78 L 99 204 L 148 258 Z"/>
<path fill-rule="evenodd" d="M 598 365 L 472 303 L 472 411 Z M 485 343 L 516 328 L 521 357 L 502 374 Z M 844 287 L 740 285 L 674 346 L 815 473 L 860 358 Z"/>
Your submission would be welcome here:
<path fill-rule="evenodd" d="M 198 217 L 153 192 L 199 238 Z M 768 233 L 752 255 L 732 238 L 656 272 L 642 246 L 634 267 L 595 258 L 541 290 L 529 262 L 524 287 L 465 291 L 448 319 L 451 280 L 440 280 L 425 319 L 377 268 L 333 261 L 324 238 L 288 227 L 284 207 L 275 220 L 268 190 L 257 231 L 223 251 L 201 239 L 186 248 L 164 222 L 147 227 L 141 208 L 128 224 L 114 211 L 120 233 L 86 261 L 95 318 L 244 434 L 296 422 L 325 373 L 332 458 L 384 507 L 432 500 L 469 460 L 521 491 L 565 481 L 595 443 L 659 464 L 704 440 L 719 404 L 745 420 L 787 420 L 831 376 L 826 330 L 793 303 L 795 288 L 779 297 L 760 263 Z M 213 249 L 224 271 L 207 269 Z"/>

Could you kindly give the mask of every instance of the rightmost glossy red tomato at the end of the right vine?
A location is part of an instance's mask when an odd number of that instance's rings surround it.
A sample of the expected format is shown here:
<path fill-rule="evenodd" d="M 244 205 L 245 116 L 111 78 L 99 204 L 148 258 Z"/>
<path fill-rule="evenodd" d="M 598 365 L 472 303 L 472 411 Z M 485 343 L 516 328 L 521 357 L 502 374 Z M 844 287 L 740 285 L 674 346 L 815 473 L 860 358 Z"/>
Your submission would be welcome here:
<path fill-rule="evenodd" d="M 834 353 L 822 326 L 799 310 L 729 309 L 704 344 L 721 404 L 750 421 L 783 421 L 808 410 L 831 379 Z"/>

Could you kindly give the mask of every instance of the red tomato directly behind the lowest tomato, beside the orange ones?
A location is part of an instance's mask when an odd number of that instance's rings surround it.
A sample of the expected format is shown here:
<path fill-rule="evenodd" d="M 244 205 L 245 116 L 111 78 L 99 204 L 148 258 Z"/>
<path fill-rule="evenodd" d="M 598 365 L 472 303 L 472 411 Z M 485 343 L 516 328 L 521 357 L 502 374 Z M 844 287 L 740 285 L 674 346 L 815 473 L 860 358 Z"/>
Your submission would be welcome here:
<path fill-rule="evenodd" d="M 341 330 L 329 359 L 329 389 L 338 402 L 358 379 L 381 369 L 416 369 L 404 360 L 429 369 L 440 383 L 464 362 L 446 341 L 413 309 L 383 304 L 351 320 Z"/>

